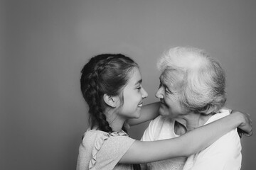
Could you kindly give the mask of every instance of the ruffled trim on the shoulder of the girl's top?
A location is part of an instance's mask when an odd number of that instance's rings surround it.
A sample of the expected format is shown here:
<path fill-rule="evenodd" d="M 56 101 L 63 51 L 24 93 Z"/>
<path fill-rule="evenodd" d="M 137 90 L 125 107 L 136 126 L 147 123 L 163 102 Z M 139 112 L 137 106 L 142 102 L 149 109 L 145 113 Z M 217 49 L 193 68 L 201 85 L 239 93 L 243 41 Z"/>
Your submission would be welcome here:
<path fill-rule="evenodd" d="M 97 139 L 95 141 L 95 145 L 92 148 L 92 159 L 90 159 L 89 162 L 89 169 L 93 169 L 97 162 L 97 152 L 99 152 L 100 148 L 102 147 L 105 140 L 107 140 L 109 137 L 115 137 L 115 136 L 128 136 L 126 132 L 100 132 L 97 135 Z"/>

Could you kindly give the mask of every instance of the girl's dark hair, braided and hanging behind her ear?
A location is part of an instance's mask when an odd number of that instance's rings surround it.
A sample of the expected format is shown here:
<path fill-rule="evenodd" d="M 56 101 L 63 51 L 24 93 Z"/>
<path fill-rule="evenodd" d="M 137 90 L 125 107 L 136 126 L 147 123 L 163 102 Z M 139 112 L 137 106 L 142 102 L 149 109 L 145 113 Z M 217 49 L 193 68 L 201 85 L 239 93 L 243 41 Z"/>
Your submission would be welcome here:
<path fill-rule="evenodd" d="M 139 66 L 127 56 L 102 54 L 92 57 L 82 68 L 80 85 L 82 96 L 89 106 L 91 128 L 97 125 L 99 130 L 112 132 L 104 114 L 107 104 L 103 95 L 119 96 L 122 100 L 122 90 L 134 67 Z"/>

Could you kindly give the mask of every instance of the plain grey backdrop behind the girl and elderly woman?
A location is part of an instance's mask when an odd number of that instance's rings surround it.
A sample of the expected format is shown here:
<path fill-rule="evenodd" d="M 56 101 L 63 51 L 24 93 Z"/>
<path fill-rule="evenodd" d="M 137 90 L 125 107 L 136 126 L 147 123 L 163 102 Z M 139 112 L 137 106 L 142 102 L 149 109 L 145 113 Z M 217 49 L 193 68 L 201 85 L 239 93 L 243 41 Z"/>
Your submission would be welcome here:
<path fill-rule="evenodd" d="M 255 124 L 255 7 L 255 0 L 1 1 L 0 169 L 75 169 L 88 127 L 80 69 L 102 52 L 140 64 L 150 103 L 162 52 L 203 48 L 226 71 L 227 105 Z M 132 137 L 145 126 L 132 128 Z M 256 169 L 255 139 L 242 137 L 243 170 Z"/>

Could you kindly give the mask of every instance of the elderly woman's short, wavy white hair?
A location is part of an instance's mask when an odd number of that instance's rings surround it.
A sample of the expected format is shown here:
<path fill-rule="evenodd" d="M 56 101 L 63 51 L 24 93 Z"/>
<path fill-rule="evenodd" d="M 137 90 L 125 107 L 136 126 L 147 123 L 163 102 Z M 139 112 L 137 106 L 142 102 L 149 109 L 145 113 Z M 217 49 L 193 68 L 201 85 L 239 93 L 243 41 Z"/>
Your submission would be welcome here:
<path fill-rule="evenodd" d="M 171 48 L 164 52 L 157 67 L 161 72 L 166 69 L 183 72 L 179 101 L 189 110 L 204 114 L 217 113 L 225 104 L 225 72 L 220 63 L 204 50 L 194 47 Z"/>

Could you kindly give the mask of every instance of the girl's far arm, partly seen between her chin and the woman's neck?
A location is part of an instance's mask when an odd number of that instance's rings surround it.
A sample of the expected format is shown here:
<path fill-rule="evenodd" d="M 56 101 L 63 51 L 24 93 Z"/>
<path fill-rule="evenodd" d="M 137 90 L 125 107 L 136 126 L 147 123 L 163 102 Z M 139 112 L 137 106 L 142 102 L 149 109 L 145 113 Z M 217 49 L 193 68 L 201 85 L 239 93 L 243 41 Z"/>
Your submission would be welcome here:
<path fill-rule="evenodd" d="M 133 125 L 138 125 L 140 123 L 144 123 L 148 120 L 152 120 L 159 115 L 159 107 L 160 107 L 160 102 L 151 103 L 151 104 L 142 106 L 142 111 L 141 111 L 140 117 L 137 119 L 135 119 L 135 118 L 129 119 L 127 121 L 127 123 L 130 126 L 133 126 Z"/>

